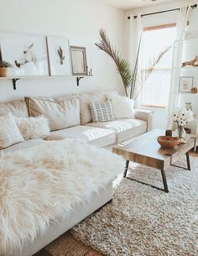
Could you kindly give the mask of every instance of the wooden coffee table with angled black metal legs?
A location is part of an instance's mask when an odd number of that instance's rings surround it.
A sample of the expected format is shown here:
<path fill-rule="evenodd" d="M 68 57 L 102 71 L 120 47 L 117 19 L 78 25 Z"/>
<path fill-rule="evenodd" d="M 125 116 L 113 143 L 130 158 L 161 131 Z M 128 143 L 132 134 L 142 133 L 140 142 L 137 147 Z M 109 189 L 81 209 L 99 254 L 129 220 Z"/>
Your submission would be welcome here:
<path fill-rule="evenodd" d="M 177 165 L 174 166 L 190 170 L 189 151 L 195 147 L 195 136 L 192 134 L 187 134 L 186 144 L 180 144 L 174 149 L 162 149 L 157 142 L 157 138 L 160 135 L 164 135 L 164 133 L 164 130 L 154 129 L 148 133 L 143 133 L 136 138 L 125 141 L 122 144 L 117 144 L 112 148 L 113 153 L 120 154 L 124 159 L 126 159 L 125 170 L 123 173 L 124 178 L 127 177 L 129 161 L 157 168 L 161 170 L 162 180 L 164 183 L 164 191 L 168 193 L 169 189 L 167 185 L 165 170 L 168 169 L 170 165 L 173 165 L 176 160 L 180 159 L 183 154 L 186 155 L 187 168 Z M 131 178 L 128 179 L 134 180 Z M 142 181 L 135 181 L 149 185 Z M 159 187 L 154 185 L 150 186 L 161 190 Z"/>

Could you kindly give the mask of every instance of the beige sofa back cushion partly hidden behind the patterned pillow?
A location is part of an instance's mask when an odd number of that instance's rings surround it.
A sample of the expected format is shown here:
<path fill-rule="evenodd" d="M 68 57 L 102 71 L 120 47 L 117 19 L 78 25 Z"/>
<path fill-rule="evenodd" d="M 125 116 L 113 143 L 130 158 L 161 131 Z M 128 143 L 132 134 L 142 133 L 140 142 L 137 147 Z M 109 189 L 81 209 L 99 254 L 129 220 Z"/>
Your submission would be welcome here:
<path fill-rule="evenodd" d="M 106 102 L 107 94 L 106 93 L 85 93 L 79 95 L 80 106 L 81 106 L 81 124 L 91 123 L 91 109 L 89 104 L 91 102 Z"/>

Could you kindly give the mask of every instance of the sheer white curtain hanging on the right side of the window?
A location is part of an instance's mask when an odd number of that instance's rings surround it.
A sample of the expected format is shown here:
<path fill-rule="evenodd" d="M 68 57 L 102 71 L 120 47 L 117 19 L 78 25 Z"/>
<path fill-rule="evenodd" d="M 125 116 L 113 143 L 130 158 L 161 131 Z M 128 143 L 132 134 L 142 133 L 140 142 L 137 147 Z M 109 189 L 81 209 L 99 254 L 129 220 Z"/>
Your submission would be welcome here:
<path fill-rule="evenodd" d="M 178 18 L 176 22 L 176 42 L 175 42 L 175 61 L 173 66 L 176 67 L 173 69 L 172 73 L 172 81 L 170 86 L 170 94 L 169 94 L 169 115 L 168 115 L 168 127 L 172 128 L 172 112 L 178 104 L 178 86 L 180 80 L 180 65 L 182 58 L 182 42 L 180 40 L 184 39 L 185 29 L 187 27 L 187 22 L 190 13 L 190 1 L 186 1 L 185 5 L 180 7 L 180 12 L 178 13 Z"/>

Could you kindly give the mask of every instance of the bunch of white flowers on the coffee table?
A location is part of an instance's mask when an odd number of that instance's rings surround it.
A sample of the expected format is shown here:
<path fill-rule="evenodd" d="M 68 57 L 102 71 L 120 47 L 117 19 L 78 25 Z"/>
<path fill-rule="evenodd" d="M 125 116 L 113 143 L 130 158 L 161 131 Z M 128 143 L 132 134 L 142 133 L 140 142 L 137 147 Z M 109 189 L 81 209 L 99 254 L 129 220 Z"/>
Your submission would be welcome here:
<path fill-rule="evenodd" d="M 175 110 L 173 112 L 173 121 L 177 123 L 178 127 L 184 128 L 187 123 L 193 121 L 193 112 L 185 108 Z"/>

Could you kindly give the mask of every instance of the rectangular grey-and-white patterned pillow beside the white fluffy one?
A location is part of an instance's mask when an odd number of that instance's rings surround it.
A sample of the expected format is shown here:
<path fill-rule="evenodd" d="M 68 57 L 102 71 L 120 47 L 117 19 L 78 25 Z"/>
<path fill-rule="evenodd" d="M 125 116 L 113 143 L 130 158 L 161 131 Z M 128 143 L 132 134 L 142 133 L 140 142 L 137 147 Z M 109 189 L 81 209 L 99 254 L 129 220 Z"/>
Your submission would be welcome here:
<path fill-rule="evenodd" d="M 116 119 L 112 110 L 112 101 L 91 102 L 89 105 L 91 108 L 91 117 L 94 123 L 107 122 Z"/>

